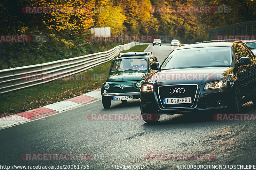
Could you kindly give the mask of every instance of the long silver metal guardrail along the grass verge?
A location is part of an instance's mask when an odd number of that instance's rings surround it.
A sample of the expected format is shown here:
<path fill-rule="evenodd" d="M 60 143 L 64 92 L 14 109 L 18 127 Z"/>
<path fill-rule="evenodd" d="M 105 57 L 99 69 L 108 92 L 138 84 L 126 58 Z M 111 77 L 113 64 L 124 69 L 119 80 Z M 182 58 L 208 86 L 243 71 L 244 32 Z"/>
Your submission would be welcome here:
<path fill-rule="evenodd" d="M 0 94 L 47 83 L 49 81 L 65 78 L 88 70 L 92 67 L 108 62 L 121 51 L 130 49 L 131 47 L 139 44 L 140 42 L 131 42 L 99 53 L 0 70 Z M 31 77 L 36 76 L 39 78 L 31 78 L 28 81 L 24 79 L 24 75 L 31 75 Z"/>

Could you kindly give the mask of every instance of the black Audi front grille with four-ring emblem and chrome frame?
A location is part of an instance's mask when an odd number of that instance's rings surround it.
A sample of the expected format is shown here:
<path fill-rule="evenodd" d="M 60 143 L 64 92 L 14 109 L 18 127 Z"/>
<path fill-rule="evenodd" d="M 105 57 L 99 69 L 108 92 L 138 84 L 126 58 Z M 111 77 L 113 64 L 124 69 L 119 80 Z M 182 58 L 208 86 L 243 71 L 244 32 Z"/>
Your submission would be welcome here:
<path fill-rule="evenodd" d="M 164 108 L 192 107 L 195 102 L 198 85 L 163 85 L 158 87 L 159 98 Z M 191 97 L 192 103 L 163 104 L 164 98 Z"/>

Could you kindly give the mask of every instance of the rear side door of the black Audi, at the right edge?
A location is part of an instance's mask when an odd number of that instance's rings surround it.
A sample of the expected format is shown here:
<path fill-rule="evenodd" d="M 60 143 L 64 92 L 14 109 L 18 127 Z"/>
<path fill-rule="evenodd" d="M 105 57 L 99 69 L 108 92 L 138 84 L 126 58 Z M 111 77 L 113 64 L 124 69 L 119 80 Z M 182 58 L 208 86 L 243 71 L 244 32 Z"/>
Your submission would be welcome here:
<path fill-rule="evenodd" d="M 240 45 L 242 52 L 245 57 L 248 57 L 252 60 L 252 64 L 249 64 L 249 72 L 251 73 L 251 83 L 249 85 L 250 92 L 255 92 L 256 90 L 256 59 L 255 56 L 252 54 L 252 51 L 246 45 Z"/>

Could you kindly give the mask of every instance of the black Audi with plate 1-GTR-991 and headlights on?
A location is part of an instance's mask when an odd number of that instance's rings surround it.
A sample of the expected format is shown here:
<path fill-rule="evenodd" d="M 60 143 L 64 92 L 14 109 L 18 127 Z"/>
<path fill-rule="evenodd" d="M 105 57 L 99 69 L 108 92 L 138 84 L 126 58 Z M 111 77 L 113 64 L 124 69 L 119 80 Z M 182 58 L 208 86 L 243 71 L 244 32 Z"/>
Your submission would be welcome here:
<path fill-rule="evenodd" d="M 140 92 L 146 122 L 157 121 L 162 114 L 215 109 L 241 113 L 242 104 L 256 104 L 256 58 L 242 42 L 183 45 L 151 69 L 157 71 Z M 156 118 L 148 119 L 150 115 Z"/>

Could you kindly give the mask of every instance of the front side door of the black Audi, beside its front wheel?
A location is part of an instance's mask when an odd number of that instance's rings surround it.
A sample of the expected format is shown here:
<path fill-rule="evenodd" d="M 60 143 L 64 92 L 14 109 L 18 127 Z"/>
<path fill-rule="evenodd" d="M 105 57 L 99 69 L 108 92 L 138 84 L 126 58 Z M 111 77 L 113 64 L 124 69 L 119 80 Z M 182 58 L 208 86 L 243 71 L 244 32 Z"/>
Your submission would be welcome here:
<path fill-rule="evenodd" d="M 236 59 L 236 63 L 239 63 L 240 58 L 244 57 L 244 54 L 242 52 L 242 49 L 240 48 L 240 45 L 236 44 L 234 46 L 234 50 L 235 50 L 235 59 Z M 241 92 L 242 95 L 245 96 L 249 93 L 251 93 L 250 91 L 250 83 L 252 81 L 252 74 L 250 72 L 250 65 L 242 65 L 238 67 L 237 70 L 237 78 L 239 79 L 240 85 L 241 85 Z"/>

